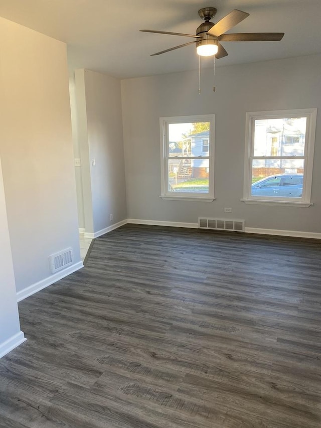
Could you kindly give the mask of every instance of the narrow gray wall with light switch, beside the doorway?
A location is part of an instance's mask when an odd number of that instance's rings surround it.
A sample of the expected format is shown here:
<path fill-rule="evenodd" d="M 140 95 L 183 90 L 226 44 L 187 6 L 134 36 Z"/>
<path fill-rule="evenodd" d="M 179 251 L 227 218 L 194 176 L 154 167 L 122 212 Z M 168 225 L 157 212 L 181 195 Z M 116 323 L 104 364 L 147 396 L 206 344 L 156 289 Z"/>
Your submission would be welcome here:
<path fill-rule="evenodd" d="M 89 70 L 75 76 L 85 228 L 96 233 L 127 217 L 120 80 Z"/>

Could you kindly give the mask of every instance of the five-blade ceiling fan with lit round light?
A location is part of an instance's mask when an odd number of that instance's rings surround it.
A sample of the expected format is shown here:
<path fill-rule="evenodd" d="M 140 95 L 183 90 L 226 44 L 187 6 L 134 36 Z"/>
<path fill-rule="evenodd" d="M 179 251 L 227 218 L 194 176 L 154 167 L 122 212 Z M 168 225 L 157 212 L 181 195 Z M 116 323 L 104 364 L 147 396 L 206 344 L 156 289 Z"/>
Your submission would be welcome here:
<path fill-rule="evenodd" d="M 184 43 L 183 45 L 175 46 L 174 48 L 166 49 L 165 51 L 156 52 L 154 55 L 161 55 L 165 52 L 170 52 L 175 49 L 183 48 L 184 46 L 193 45 L 196 43 L 197 53 L 200 56 L 212 56 L 223 58 L 228 55 L 220 42 L 265 42 L 278 41 L 284 36 L 284 33 L 234 33 L 225 34 L 239 22 L 249 16 L 246 12 L 234 9 L 226 17 L 214 24 L 210 20 L 216 15 L 216 8 L 203 8 L 199 10 L 199 16 L 204 19 L 198 29 L 196 35 L 185 33 L 171 33 L 169 31 L 156 30 L 139 30 L 146 33 L 171 34 L 174 36 L 193 37 L 196 40 L 193 42 Z"/>

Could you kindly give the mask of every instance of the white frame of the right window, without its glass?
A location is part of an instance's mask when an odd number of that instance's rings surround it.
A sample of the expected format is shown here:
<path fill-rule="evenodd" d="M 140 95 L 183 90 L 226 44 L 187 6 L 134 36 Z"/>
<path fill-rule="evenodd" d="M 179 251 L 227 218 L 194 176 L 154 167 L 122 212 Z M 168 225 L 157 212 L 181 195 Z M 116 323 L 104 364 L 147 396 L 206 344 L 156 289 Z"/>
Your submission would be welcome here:
<path fill-rule="evenodd" d="M 311 187 L 312 187 L 312 170 L 313 170 L 313 154 L 314 140 L 316 127 L 316 108 L 304 108 L 296 110 L 271 110 L 271 111 L 254 111 L 246 113 L 246 136 L 245 136 L 245 161 L 244 161 L 244 196 L 242 201 L 247 204 L 264 204 L 264 205 L 283 205 L 283 206 L 298 206 L 309 207 L 311 202 Z M 301 198 L 282 198 L 282 197 L 264 197 L 252 196 L 252 161 L 254 159 L 275 159 L 275 156 L 254 156 L 254 131 L 255 120 L 258 119 L 274 119 L 285 117 L 306 117 L 306 132 L 304 156 L 287 156 L 280 157 L 282 159 L 303 159 L 304 174 L 303 174 L 303 192 Z M 277 158 L 279 158 L 277 156 Z"/>

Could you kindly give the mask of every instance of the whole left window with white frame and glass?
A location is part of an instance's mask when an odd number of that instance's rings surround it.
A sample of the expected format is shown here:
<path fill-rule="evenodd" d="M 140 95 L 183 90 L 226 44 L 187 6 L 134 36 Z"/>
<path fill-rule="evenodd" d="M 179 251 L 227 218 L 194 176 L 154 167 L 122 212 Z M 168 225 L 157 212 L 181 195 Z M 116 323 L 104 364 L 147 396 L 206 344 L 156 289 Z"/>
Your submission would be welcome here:
<path fill-rule="evenodd" d="M 161 117 L 163 199 L 214 199 L 214 115 Z"/>

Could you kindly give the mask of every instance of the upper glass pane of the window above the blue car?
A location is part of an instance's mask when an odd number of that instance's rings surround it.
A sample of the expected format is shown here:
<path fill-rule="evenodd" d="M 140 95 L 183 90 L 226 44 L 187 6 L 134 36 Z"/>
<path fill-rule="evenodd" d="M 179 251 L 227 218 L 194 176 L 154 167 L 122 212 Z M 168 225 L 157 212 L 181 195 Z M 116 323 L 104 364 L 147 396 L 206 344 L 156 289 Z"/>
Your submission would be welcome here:
<path fill-rule="evenodd" d="M 254 156 L 304 156 L 306 117 L 256 119 Z"/>

